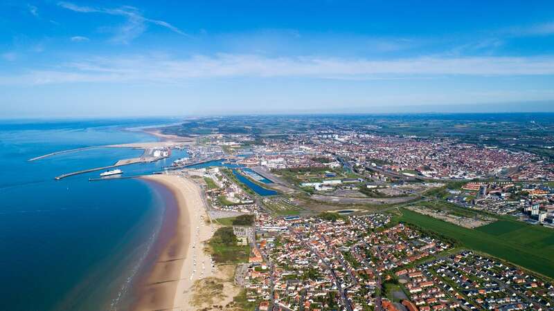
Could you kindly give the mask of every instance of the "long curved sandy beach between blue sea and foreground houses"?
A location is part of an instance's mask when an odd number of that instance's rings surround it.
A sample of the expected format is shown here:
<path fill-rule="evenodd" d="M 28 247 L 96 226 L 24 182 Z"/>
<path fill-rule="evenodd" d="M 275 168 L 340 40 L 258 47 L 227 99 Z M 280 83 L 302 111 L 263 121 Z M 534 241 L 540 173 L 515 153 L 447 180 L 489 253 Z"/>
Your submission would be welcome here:
<path fill-rule="evenodd" d="M 191 305 L 191 285 L 214 276 L 211 256 L 204 252 L 204 242 L 216 227 L 208 215 L 199 187 L 178 175 L 143 177 L 170 189 L 177 202 L 175 230 L 161 251 L 139 294 L 135 310 L 197 310 Z"/>

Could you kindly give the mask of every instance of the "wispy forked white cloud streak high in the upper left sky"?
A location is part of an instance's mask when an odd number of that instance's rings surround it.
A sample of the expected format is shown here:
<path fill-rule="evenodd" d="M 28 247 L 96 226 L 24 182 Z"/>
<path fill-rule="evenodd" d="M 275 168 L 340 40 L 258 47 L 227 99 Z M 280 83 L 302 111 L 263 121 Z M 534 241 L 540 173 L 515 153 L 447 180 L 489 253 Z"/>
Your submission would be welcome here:
<path fill-rule="evenodd" d="M 161 26 L 179 35 L 188 36 L 185 32 L 179 30 L 179 28 L 173 26 L 167 21 L 149 19 L 147 17 L 144 17 L 139 9 L 132 6 L 122 6 L 120 8 L 96 8 L 91 6 L 78 6 L 75 3 L 64 1 L 58 2 L 57 5 L 62 8 L 66 8 L 67 10 L 72 10 L 73 12 L 100 13 L 125 17 L 126 22 L 116 29 L 115 35 L 111 39 L 112 41 L 118 43 L 127 44 L 136 37 L 139 37 L 146 30 L 148 24 Z"/>

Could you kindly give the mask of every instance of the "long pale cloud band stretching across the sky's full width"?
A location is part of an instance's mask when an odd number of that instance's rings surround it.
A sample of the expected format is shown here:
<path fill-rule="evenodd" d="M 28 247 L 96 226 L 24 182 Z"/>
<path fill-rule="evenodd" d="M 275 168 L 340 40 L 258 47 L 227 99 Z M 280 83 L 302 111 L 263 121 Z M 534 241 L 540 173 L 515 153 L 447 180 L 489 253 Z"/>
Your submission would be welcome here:
<path fill-rule="evenodd" d="M 179 83 L 195 78 L 420 79 L 448 75 L 554 75 L 554 57 L 418 57 L 395 60 L 259 55 L 96 57 L 0 77 L 0 84 Z"/>

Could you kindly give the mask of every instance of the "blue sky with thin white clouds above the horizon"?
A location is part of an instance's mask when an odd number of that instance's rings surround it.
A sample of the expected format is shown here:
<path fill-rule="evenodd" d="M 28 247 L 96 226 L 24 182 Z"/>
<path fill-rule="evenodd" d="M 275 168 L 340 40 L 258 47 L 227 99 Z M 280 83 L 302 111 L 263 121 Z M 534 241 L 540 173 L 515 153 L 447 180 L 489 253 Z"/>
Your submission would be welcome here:
<path fill-rule="evenodd" d="M 554 111 L 554 1 L 0 0 L 0 117 Z"/>

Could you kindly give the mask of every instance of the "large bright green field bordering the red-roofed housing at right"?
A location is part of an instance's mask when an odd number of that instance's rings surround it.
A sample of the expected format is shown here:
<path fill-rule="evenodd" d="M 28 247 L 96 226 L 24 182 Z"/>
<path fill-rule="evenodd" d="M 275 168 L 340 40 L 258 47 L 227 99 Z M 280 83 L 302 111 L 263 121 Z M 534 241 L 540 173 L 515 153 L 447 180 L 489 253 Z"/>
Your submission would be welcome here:
<path fill-rule="evenodd" d="M 554 230 L 511 220 L 467 229 L 402 209 L 400 221 L 454 238 L 464 247 L 488 253 L 554 278 Z"/>

